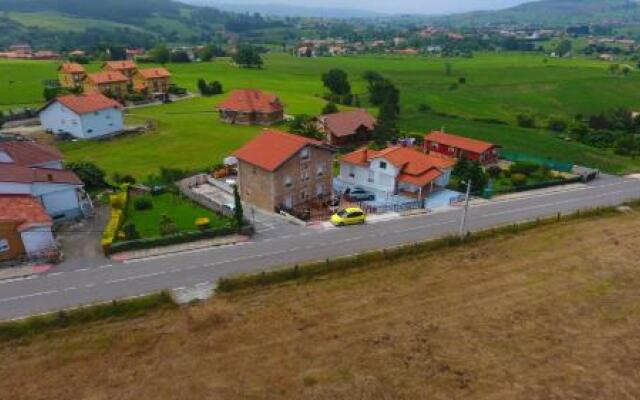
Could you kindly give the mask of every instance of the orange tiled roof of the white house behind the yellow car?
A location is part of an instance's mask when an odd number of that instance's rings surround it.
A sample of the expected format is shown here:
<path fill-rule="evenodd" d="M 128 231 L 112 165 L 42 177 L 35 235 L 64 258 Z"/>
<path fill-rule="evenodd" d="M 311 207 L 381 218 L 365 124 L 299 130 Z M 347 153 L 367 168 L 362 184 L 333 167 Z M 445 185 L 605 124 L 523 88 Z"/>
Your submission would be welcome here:
<path fill-rule="evenodd" d="M 400 170 L 398 180 L 416 186 L 427 183 L 442 175 L 442 170 L 452 168 L 455 161 L 443 157 L 424 154 L 407 147 L 388 147 L 381 151 L 366 148 L 356 150 L 342 157 L 341 161 L 368 167 L 371 160 L 384 158 Z"/>

